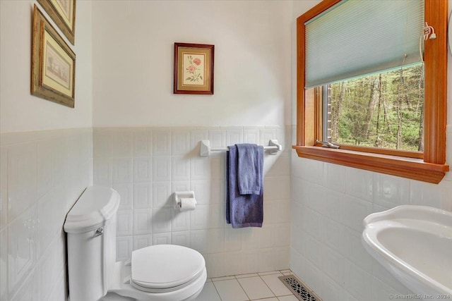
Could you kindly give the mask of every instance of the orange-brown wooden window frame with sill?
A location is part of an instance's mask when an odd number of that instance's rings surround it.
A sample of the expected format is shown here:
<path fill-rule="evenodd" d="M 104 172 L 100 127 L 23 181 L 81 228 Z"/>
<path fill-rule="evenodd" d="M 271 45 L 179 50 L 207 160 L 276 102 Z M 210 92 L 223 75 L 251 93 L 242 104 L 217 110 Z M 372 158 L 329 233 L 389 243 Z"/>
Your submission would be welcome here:
<path fill-rule="evenodd" d="M 393 176 L 439 183 L 446 164 L 447 106 L 447 20 L 448 1 L 424 0 L 424 18 L 434 27 L 436 39 L 425 43 L 424 152 L 341 145 L 340 149 L 321 147 L 321 89 L 305 89 L 304 23 L 341 0 L 323 0 L 297 18 L 297 145 L 298 156 L 340 164 Z"/>

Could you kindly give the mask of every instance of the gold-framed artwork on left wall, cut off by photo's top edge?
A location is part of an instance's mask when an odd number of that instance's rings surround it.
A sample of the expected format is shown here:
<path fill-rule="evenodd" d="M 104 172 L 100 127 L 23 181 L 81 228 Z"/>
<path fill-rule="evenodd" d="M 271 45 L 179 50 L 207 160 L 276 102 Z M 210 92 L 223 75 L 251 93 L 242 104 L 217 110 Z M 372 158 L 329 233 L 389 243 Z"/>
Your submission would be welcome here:
<path fill-rule="evenodd" d="M 61 32 L 74 44 L 76 32 L 76 0 L 37 0 L 54 20 Z"/>

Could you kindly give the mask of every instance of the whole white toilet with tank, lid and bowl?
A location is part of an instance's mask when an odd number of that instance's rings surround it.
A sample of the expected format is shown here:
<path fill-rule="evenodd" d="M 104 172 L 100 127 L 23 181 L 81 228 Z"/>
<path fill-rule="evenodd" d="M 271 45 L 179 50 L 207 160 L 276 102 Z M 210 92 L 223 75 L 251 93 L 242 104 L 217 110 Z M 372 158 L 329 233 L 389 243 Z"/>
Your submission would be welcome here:
<path fill-rule="evenodd" d="M 207 278 L 206 262 L 196 250 L 154 245 L 133 251 L 128 262 L 116 262 L 118 207 L 117 191 L 93 186 L 66 216 L 70 300 L 96 301 L 107 293 L 126 300 L 194 300 Z"/>

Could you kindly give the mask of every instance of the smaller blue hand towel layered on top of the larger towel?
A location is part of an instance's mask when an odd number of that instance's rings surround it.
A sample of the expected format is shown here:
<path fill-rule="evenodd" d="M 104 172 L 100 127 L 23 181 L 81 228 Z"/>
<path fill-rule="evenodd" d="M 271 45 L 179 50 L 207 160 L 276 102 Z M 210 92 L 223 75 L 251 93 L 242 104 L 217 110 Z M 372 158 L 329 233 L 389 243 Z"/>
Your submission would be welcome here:
<path fill-rule="evenodd" d="M 244 143 L 237 146 L 237 184 L 241 195 L 261 194 L 263 147 Z"/>

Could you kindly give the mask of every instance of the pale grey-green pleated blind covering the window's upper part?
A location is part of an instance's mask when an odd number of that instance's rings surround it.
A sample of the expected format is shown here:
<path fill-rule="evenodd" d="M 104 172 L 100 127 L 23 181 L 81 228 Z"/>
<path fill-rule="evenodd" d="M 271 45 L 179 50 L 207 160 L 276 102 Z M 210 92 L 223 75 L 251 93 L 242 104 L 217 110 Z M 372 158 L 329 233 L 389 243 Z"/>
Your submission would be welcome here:
<path fill-rule="evenodd" d="M 424 0 L 344 0 L 305 27 L 307 88 L 410 66 L 422 61 Z"/>

